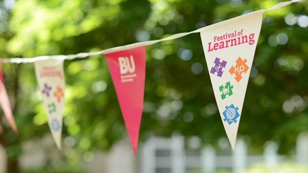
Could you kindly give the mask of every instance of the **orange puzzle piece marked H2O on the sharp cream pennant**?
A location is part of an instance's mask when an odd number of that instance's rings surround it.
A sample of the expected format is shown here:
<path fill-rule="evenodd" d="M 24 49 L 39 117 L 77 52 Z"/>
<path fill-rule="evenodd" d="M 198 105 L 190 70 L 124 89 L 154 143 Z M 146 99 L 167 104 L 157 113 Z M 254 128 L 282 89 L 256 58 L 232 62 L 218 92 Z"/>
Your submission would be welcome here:
<path fill-rule="evenodd" d="M 230 74 L 235 78 L 236 81 L 240 82 L 242 77 L 246 74 L 249 67 L 246 64 L 247 60 L 242 60 L 241 57 L 239 57 L 233 66 L 230 68 L 229 72 Z"/>

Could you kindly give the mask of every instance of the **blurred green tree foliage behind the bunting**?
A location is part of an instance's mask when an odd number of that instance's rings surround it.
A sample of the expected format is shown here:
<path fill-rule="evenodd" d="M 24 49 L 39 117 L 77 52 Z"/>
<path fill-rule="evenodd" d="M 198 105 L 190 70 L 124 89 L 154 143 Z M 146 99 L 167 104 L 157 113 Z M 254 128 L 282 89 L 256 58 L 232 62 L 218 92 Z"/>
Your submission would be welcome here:
<path fill-rule="evenodd" d="M 269 8 L 276 0 L 18 0 L 2 6 L 0 56 L 37 57 L 97 51 L 165 38 Z M 5 4 L 5 3 L 4 3 Z M 242 111 L 239 136 L 262 147 L 276 141 L 289 152 L 308 130 L 307 27 L 286 24 L 287 15 L 307 15 L 308 2 L 264 14 Z M 284 42 L 287 39 L 286 42 Z M 197 135 L 216 145 L 226 137 L 199 34 L 147 47 L 140 139 L 150 135 Z M 5 125 L 9 158 L 23 141 L 50 133 L 33 64 L 4 64 L 19 136 Z M 65 61 L 63 149 L 71 165 L 86 152 L 108 150 L 127 136 L 107 61 L 103 55 Z M 2 122 L 2 123 L 5 123 Z M 130 145 L 129 142 L 127 145 Z"/>

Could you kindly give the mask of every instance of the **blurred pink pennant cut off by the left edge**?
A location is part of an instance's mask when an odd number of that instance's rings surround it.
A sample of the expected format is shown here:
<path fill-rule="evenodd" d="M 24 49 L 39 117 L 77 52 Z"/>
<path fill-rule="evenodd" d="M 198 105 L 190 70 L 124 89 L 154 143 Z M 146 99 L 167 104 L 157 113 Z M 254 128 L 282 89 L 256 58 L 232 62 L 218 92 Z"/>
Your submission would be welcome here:
<path fill-rule="evenodd" d="M 2 66 L 2 63 L 0 62 L 0 105 L 1 105 L 1 108 L 3 110 L 3 113 L 4 113 L 7 121 L 11 125 L 14 133 L 17 135 L 18 130 L 17 130 L 15 120 L 14 120 L 14 117 L 13 117 L 10 100 L 7 96 L 7 92 L 6 92 L 6 89 L 5 89 L 1 66 Z"/>

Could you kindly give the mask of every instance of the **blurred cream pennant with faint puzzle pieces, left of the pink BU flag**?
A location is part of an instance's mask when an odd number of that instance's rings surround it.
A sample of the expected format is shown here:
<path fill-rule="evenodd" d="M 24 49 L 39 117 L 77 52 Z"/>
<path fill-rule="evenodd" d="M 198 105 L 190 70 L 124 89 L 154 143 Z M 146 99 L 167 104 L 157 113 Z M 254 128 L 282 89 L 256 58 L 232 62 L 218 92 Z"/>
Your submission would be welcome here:
<path fill-rule="evenodd" d="M 62 59 L 44 59 L 34 62 L 35 74 L 47 115 L 51 135 L 61 149 L 65 78 Z"/>

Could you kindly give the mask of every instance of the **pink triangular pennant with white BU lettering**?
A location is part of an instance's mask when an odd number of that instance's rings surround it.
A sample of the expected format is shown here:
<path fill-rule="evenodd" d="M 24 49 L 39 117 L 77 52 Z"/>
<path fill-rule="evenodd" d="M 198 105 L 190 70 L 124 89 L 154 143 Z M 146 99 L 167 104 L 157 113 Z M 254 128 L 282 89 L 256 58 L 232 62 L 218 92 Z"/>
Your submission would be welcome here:
<path fill-rule="evenodd" d="M 106 54 L 125 125 L 136 154 L 143 108 L 145 46 Z"/>

